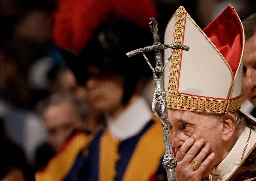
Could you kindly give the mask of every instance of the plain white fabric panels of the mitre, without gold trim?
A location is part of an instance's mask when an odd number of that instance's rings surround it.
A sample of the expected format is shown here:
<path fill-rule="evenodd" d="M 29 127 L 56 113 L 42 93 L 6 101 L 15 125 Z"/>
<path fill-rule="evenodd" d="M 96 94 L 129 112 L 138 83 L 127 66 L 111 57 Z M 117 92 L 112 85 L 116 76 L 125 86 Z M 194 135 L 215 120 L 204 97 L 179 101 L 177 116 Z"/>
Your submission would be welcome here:
<path fill-rule="evenodd" d="M 164 44 L 173 44 L 175 16 L 169 21 L 164 37 Z M 196 25 L 189 14 L 186 14 L 183 45 L 190 47 L 189 51 L 182 51 L 180 64 L 178 93 L 202 97 L 227 99 L 232 86 L 233 73 L 229 65 L 223 60 L 222 55 L 203 31 Z M 170 49 L 165 49 L 165 60 L 171 54 Z M 165 89 L 167 90 L 170 65 L 164 72 Z M 241 72 L 239 72 L 241 73 Z M 233 95 L 241 94 L 239 80 Z M 232 97 L 233 97 L 232 95 Z"/>

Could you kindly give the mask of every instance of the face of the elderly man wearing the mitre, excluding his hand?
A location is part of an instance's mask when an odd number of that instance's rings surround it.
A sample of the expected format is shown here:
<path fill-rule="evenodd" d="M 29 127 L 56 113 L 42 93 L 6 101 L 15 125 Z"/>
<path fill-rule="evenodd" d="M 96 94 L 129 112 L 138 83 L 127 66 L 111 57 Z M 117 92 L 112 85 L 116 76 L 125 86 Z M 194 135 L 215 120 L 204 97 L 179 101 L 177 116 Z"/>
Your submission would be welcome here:
<path fill-rule="evenodd" d="M 220 120 L 208 113 L 175 109 L 168 109 L 168 119 L 173 131 L 172 146 L 176 152 L 189 138 L 194 138 L 195 141 L 203 138 L 205 143 L 211 144 L 209 153 L 214 152 L 216 156 L 204 172 L 204 175 L 209 174 L 222 158 Z"/>

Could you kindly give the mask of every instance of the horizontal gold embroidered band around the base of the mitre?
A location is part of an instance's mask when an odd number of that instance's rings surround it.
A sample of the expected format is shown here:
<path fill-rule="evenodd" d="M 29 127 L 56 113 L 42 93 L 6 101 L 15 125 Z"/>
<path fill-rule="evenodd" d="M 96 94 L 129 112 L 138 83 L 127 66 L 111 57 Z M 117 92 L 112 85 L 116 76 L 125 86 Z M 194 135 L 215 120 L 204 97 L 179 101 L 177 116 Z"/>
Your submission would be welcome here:
<path fill-rule="evenodd" d="M 194 98 L 190 96 L 179 96 L 174 94 L 166 94 L 168 108 L 178 108 L 185 110 L 206 111 L 214 113 L 229 113 L 240 109 L 241 97 L 227 100 L 210 100 L 203 98 Z"/>

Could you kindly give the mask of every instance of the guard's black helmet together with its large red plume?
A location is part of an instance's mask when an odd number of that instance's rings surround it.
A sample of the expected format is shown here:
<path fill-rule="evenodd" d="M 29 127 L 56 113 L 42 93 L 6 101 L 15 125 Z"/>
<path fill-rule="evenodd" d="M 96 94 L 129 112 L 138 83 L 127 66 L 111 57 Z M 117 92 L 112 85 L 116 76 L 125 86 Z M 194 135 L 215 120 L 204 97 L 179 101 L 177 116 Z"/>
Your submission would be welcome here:
<path fill-rule="evenodd" d="M 123 103 L 126 103 L 138 79 L 152 75 L 142 55 L 128 58 L 126 53 L 153 44 L 148 22 L 157 16 L 157 11 L 151 0 L 100 2 L 60 1 L 55 14 L 54 40 L 63 49 L 64 59 L 78 84 L 85 85 L 89 76 L 87 66 L 123 75 Z M 154 56 L 149 59 L 154 61 Z"/>

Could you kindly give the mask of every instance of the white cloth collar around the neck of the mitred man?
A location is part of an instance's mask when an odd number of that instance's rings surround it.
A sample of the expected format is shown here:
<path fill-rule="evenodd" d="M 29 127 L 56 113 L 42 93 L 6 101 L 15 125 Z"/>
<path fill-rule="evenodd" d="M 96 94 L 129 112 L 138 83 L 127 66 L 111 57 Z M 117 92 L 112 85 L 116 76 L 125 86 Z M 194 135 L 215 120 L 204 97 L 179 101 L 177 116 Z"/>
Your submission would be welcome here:
<path fill-rule="evenodd" d="M 252 133 L 249 140 L 249 144 L 246 148 L 244 158 L 246 154 L 250 151 L 250 149 L 254 146 L 256 142 L 256 132 L 253 127 L 251 127 Z M 215 167 L 211 175 L 213 176 L 213 181 L 225 181 L 231 174 L 235 171 L 237 166 L 240 163 L 240 159 L 242 157 L 247 139 L 249 137 L 250 128 L 245 127 L 242 134 L 237 139 L 235 145 L 227 155 L 227 157 L 217 166 Z"/>

